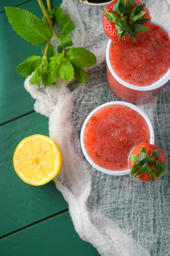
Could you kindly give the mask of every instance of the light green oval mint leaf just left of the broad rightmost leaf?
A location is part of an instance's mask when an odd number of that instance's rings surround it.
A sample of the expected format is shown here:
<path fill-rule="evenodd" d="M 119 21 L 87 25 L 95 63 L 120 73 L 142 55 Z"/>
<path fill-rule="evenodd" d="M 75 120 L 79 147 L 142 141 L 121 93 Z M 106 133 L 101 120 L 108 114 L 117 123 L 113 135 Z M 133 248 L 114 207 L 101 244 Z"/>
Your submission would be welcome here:
<path fill-rule="evenodd" d="M 74 69 L 68 59 L 62 59 L 59 72 L 61 77 L 64 78 L 66 81 L 71 81 L 74 78 Z"/>

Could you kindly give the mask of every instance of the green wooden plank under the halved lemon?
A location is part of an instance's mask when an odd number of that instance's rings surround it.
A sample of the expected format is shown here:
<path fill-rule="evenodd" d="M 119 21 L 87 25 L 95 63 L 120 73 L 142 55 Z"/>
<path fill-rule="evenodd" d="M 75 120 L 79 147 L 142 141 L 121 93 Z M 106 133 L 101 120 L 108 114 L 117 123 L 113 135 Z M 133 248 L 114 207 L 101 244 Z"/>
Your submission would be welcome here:
<path fill-rule="evenodd" d="M 0 237 L 68 208 L 53 181 L 43 186 L 24 183 L 14 171 L 18 143 L 32 134 L 48 133 L 48 118 L 32 113 L 0 127 Z"/>

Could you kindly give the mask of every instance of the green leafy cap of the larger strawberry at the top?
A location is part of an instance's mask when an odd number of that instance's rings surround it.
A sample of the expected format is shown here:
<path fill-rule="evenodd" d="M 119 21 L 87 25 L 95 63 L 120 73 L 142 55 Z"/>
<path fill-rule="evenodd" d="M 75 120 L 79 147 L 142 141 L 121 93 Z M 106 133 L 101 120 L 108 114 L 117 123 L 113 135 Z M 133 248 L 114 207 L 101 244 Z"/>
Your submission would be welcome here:
<path fill-rule="evenodd" d="M 126 0 L 118 0 L 113 5 L 114 13 L 110 13 L 105 9 L 105 16 L 108 21 L 115 23 L 116 33 L 119 34 L 119 41 L 126 35 L 127 37 L 131 37 L 133 42 L 136 42 L 137 32 L 143 33 L 149 31 L 148 27 L 141 25 L 141 23 L 150 20 L 143 18 L 146 14 L 146 12 L 142 11 L 145 8 L 145 3 L 133 8 L 134 4 L 135 0 L 127 0 L 127 2 Z"/>

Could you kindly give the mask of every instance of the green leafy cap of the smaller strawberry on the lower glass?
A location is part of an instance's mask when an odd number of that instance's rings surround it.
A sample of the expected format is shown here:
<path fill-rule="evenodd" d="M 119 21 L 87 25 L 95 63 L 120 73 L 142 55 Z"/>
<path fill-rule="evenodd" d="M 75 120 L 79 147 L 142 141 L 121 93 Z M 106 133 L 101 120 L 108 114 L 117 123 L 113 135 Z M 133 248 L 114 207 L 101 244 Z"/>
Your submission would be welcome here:
<path fill-rule="evenodd" d="M 130 176 L 132 177 L 133 174 L 134 178 L 140 177 L 143 173 L 148 173 L 151 177 L 153 183 L 155 182 L 155 174 L 158 178 L 162 177 L 164 173 L 167 172 L 169 166 L 165 163 L 155 160 L 155 158 L 160 158 L 160 151 L 152 150 L 150 156 L 146 153 L 146 149 L 142 146 L 140 150 L 139 157 L 135 154 L 130 154 L 131 161 L 136 163 L 133 165 L 130 170 Z"/>

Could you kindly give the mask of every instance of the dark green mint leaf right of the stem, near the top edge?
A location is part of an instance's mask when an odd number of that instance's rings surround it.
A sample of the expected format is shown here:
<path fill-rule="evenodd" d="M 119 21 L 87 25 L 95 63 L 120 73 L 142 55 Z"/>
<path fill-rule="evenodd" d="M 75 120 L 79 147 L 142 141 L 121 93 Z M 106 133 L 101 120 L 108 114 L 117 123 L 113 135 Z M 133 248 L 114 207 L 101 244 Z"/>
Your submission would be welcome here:
<path fill-rule="evenodd" d="M 54 14 L 56 24 L 58 25 L 58 27 L 60 28 L 61 31 L 65 24 L 67 24 L 66 29 L 68 32 L 72 31 L 75 28 L 72 20 L 66 14 L 64 14 L 64 12 L 62 11 L 60 6 L 57 6 L 53 10 L 53 14 Z"/>

